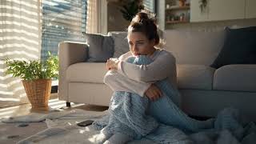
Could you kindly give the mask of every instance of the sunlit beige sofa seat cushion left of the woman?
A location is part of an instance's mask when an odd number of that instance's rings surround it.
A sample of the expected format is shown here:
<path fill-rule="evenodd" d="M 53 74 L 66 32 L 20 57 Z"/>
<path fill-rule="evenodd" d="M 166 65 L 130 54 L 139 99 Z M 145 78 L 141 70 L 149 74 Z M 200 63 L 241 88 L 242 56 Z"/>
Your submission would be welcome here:
<path fill-rule="evenodd" d="M 104 83 L 105 62 L 80 62 L 70 65 L 66 70 L 68 82 Z"/>

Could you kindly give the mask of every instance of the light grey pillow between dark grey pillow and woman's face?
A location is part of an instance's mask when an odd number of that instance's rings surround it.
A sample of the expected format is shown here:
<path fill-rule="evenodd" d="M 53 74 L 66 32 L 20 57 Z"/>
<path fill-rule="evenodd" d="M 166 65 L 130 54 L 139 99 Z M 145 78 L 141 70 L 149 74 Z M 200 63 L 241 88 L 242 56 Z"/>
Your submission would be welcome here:
<path fill-rule="evenodd" d="M 114 55 L 113 58 L 119 58 L 130 50 L 127 41 L 127 32 L 110 32 L 109 35 L 114 40 Z"/>

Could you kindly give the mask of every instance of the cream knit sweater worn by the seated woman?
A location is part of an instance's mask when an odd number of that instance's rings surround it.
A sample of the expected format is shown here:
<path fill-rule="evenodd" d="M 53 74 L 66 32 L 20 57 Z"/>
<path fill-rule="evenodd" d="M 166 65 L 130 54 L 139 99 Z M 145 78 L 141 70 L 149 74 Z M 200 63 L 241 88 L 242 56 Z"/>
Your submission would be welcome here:
<path fill-rule="evenodd" d="M 114 91 L 127 91 L 144 96 L 151 83 L 168 78 L 177 86 L 176 63 L 174 56 L 166 50 L 156 50 L 150 56 L 154 62 L 150 65 L 134 65 L 125 62 L 132 56 L 131 52 L 122 54 L 118 59 L 118 70 L 109 70 L 104 82 Z"/>

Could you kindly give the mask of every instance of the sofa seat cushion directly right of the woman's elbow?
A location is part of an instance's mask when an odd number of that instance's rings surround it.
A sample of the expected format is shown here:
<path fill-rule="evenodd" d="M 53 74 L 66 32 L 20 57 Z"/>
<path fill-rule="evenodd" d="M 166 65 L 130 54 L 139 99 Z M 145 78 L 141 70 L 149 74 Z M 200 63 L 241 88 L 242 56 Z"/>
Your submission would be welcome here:
<path fill-rule="evenodd" d="M 212 90 L 214 71 L 210 66 L 178 64 L 178 88 Z"/>

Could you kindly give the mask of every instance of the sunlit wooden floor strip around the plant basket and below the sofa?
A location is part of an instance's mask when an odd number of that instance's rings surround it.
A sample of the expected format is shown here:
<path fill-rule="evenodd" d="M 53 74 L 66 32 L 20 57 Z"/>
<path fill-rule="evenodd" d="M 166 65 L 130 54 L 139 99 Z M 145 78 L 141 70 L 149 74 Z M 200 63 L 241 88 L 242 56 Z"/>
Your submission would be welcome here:
<path fill-rule="evenodd" d="M 58 100 L 58 94 L 51 94 L 49 100 L 50 110 L 72 110 L 72 109 L 82 109 L 82 110 L 92 110 L 92 111 L 103 111 L 107 110 L 108 106 L 92 106 L 92 105 L 85 105 L 85 104 L 75 104 L 71 103 L 71 108 L 66 107 L 65 101 Z M 3 117 L 14 117 L 14 116 L 21 116 L 30 114 L 31 112 L 38 112 L 38 113 L 48 113 L 49 111 L 32 111 L 31 105 L 23 104 L 19 106 L 10 106 L 10 107 L 3 107 L 0 108 L 0 118 Z"/>

